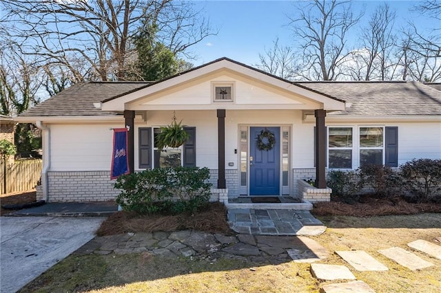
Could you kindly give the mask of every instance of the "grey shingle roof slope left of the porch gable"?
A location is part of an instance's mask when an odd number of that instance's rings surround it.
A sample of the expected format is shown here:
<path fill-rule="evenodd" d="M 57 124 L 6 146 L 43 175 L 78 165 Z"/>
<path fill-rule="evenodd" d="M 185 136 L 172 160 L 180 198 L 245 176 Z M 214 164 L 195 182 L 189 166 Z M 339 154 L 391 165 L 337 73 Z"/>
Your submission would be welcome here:
<path fill-rule="evenodd" d="M 138 89 L 145 82 L 88 82 L 77 83 L 41 102 L 21 116 L 108 116 L 116 115 L 96 109 L 94 102 Z"/>

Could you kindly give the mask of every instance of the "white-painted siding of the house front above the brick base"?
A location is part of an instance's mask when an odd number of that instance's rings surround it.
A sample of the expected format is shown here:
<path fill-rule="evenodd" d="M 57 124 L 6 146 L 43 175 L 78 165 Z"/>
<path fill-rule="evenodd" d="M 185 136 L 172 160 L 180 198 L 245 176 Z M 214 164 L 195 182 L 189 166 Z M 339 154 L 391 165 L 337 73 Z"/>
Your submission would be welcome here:
<path fill-rule="evenodd" d="M 135 170 L 138 170 L 139 127 L 160 127 L 172 122 L 173 111 L 147 111 L 146 121 L 135 122 Z M 216 110 L 176 111 L 178 121 L 196 127 L 196 164 L 209 169 L 218 168 L 218 139 Z M 227 110 L 225 118 L 225 166 L 238 169 L 238 128 L 240 125 L 274 125 L 291 127 L 291 168 L 314 168 L 314 122 L 304 123 L 301 111 L 242 111 Z M 353 168 L 358 167 L 358 129 L 360 126 L 398 127 L 398 163 L 413 158 L 441 159 L 441 124 L 437 122 L 413 123 L 327 123 L 353 127 Z M 120 124 L 50 124 L 51 171 L 110 171 L 112 134 L 110 127 Z M 232 162 L 233 166 L 228 166 Z"/>

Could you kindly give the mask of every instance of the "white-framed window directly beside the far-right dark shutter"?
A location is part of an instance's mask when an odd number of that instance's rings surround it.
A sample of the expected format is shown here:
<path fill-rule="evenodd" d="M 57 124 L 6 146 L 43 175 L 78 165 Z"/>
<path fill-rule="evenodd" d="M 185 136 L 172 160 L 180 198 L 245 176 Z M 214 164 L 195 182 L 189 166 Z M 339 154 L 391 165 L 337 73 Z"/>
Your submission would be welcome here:
<path fill-rule="evenodd" d="M 383 127 L 360 127 L 360 166 L 383 164 Z"/>

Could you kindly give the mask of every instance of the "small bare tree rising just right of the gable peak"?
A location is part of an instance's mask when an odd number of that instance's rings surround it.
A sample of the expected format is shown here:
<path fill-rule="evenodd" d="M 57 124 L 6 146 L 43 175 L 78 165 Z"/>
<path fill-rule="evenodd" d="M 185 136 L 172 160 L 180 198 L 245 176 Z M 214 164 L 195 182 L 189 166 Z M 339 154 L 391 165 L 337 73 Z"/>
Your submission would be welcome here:
<path fill-rule="evenodd" d="M 282 46 L 279 39 L 273 41 L 273 46 L 265 48 L 265 54 L 259 53 L 260 63 L 255 66 L 269 74 L 285 79 L 293 79 L 296 76 L 296 55 L 292 47 Z"/>

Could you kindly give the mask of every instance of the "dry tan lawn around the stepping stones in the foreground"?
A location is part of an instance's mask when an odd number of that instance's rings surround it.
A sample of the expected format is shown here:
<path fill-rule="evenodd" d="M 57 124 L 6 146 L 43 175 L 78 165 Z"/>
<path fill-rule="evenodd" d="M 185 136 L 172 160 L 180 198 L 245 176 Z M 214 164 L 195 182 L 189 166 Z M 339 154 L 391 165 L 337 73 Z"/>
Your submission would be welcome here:
<path fill-rule="evenodd" d="M 321 217 L 327 231 L 317 237 L 329 251 L 320 263 L 346 265 L 376 292 L 439 292 L 441 260 L 407 247 L 441 237 L 441 214 L 380 217 Z M 439 245 L 441 243 L 438 243 Z M 379 249 L 398 246 L 433 263 L 412 272 L 390 261 Z M 387 272 L 358 272 L 336 250 L 365 250 L 387 265 Z M 150 254 L 71 255 L 20 292 L 318 292 L 309 264 L 287 261 L 269 265 L 247 259 L 165 259 Z"/>

